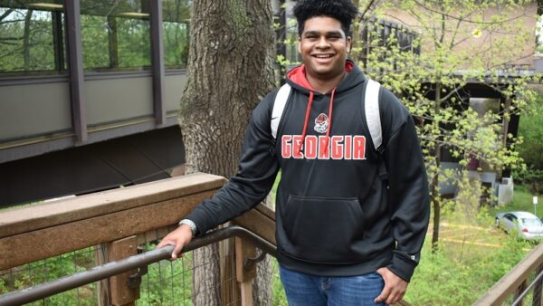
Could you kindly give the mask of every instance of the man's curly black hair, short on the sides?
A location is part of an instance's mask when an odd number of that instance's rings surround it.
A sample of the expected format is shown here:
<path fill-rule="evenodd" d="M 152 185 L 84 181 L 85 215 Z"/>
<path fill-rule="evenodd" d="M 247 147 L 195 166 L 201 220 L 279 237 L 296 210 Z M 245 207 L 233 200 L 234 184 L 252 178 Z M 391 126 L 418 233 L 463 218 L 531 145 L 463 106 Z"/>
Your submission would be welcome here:
<path fill-rule="evenodd" d="M 293 11 L 298 20 L 300 36 L 306 20 L 319 16 L 337 19 L 341 23 L 343 32 L 348 35 L 350 25 L 358 14 L 357 5 L 350 0 L 300 0 L 294 5 Z"/>

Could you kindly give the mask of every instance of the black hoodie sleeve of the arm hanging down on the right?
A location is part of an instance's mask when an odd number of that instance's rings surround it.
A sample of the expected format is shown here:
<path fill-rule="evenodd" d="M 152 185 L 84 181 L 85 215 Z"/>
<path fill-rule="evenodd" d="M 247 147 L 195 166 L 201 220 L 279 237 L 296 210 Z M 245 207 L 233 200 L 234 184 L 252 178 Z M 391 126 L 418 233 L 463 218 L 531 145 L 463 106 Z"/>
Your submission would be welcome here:
<path fill-rule="evenodd" d="M 387 266 L 409 282 L 419 263 L 428 229 L 430 202 L 424 158 L 414 120 L 390 91 L 383 90 L 384 153 L 395 251 Z"/>

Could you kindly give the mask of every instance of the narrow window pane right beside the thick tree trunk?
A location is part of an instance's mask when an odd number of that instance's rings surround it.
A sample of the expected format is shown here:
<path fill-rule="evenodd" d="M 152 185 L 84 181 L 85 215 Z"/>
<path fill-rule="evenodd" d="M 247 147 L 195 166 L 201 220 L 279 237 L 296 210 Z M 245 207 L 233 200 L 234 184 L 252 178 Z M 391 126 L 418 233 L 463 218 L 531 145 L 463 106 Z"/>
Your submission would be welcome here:
<path fill-rule="evenodd" d="M 189 0 L 162 1 L 164 65 L 167 68 L 186 68 L 190 5 Z"/>

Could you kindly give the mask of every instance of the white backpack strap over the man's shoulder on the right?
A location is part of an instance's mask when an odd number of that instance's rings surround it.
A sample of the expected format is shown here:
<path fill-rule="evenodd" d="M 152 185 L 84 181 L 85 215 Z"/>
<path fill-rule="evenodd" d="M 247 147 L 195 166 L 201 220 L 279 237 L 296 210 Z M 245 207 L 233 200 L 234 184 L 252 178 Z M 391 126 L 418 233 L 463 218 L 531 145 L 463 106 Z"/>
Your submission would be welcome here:
<path fill-rule="evenodd" d="M 381 131 L 381 117 L 379 115 L 379 89 L 381 84 L 377 81 L 367 79 L 366 85 L 366 121 L 369 135 L 374 143 L 374 148 L 380 150 L 383 143 L 383 135 Z"/>

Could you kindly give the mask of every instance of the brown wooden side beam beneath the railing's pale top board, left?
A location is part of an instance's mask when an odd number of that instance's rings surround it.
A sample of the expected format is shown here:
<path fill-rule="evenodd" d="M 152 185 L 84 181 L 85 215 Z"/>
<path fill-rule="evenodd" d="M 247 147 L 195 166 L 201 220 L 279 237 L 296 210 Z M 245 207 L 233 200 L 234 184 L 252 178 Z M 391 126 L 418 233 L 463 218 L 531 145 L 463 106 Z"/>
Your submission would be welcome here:
<path fill-rule="evenodd" d="M 215 191 L 0 238 L 0 270 L 176 224 Z"/>

